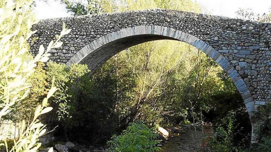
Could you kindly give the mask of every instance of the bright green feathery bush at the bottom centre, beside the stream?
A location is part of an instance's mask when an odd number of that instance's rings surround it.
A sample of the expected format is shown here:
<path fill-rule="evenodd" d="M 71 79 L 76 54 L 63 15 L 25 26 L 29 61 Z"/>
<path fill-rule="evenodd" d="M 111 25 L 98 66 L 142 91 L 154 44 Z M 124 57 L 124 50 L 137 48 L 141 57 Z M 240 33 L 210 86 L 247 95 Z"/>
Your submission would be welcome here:
<path fill-rule="evenodd" d="M 130 123 L 127 130 L 124 130 L 119 136 L 114 135 L 108 151 L 114 152 L 154 152 L 161 150 L 156 147 L 159 140 L 155 140 L 158 134 L 153 133 L 154 129 L 149 129 L 143 122 Z"/>

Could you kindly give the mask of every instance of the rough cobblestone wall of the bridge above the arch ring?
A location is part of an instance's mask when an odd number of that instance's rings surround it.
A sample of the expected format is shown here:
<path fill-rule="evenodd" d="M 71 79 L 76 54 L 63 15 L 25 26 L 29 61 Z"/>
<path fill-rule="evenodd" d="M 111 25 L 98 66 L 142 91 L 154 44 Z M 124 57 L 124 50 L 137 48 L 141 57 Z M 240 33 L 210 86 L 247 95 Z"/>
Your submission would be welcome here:
<path fill-rule="evenodd" d="M 174 10 L 48 19 L 33 26 L 33 30 L 38 30 L 29 40 L 34 55 L 38 53 L 39 45 L 47 46 L 55 39 L 63 22 L 72 30 L 61 39 L 61 48 L 51 50 L 52 61 L 66 64 L 92 41 L 121 29 L 163 26 L 188 33 L 222 54 L 244 80 L 255 104 L 263 105 L 271 100 L 270 24 Z"/>

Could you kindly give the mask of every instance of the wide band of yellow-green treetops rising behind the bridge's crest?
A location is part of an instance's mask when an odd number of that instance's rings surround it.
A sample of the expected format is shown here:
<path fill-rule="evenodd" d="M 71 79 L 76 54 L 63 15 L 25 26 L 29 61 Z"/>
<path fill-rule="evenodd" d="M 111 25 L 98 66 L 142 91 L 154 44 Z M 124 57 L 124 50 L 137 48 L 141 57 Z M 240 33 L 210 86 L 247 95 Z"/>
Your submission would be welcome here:
<path fill-rule="evenodd" d="M 172 9 L 200 13 L 200 5 L 192 0 L 59 0 L 73 15 L 123 12 L 130 10 Z"/>

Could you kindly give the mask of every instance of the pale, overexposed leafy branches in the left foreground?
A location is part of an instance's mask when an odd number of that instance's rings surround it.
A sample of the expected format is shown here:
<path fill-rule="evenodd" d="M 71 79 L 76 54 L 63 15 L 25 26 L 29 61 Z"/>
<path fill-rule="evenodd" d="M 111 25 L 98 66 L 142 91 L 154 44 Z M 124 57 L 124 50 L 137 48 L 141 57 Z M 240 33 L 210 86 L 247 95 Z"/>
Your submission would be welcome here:
<path fill-rule="evenodd" d="M 27 83 L 29 76 L 34 72 L 37 62 L 47 62 L 52 48 L 62 45 L 59 42 L 63 35 L 70 32 L 63 23 L 63 30 L 56 41 L 51 41 L 45 50 L 43 45 L 39 47 L 39 53 L 34 57 L 28 54 L 27 40 L 36 31 L 31 31 L 31 26 L 35 23 L 31 16 L 29 0 L 3 0 L 0 2 L 0 119 L 8 114 L 12 107 L 26 98 L 30 92 L 31 84 Z M 27 27 L 26 27 L 27 25 Z M 6 147 L 6 151 L 37 151 L 41 146 L 38 138 L 46 133 L 45 125 L 40 123 L 38 117 L 52 110 L 47 107 L 48 99 L 57 90 L 52 86 L 47 97 L 43 99 L 42 105 L 38 105 L 35 110 L 33 120 L 26 124 L 25 121 L 19 123 L 19 136 L 14 139 L 13 146 L 9 147 L 5 134 L 0 135 L 1 146 Z M 15 109 L 16 110 L 16 109 Z M 53 149 L 51 149 L 53 151 Z"/>

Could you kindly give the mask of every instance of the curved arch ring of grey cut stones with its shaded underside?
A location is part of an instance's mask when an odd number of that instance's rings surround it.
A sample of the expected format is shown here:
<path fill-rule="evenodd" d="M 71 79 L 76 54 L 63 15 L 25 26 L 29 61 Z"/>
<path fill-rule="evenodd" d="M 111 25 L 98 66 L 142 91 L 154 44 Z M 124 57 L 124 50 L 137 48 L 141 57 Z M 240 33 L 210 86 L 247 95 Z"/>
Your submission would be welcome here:
<path fill-rule="evenodd" d="M 126 48 L 147 41 L 161 39 L 186 42 L 197 49 L 200 49 L 212 58 L 212 60 L 216 61 L 216 63 L 220 65 L 220 67 L 223 68 L 223 70 L 227 72 L 229 77 L 233 80 L 239 93 L 244 99 L 249 116 L 253 115 L 253 112 L 255 111 L 255 103 L 252 95 L 244 80 L 233 65 L 208 43 L 178 29 L 157 25 L 142 25 L 120 29 L 95 39 L 79 50 L 70 60 L 68 60 L 66 65 L 71 66 L 71 64 L 74 63 L 83 63 L 87 64 L 92 71 L 95 71 L 110 57 Z"/>

